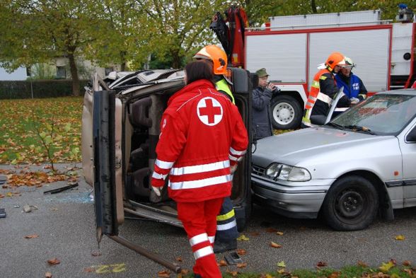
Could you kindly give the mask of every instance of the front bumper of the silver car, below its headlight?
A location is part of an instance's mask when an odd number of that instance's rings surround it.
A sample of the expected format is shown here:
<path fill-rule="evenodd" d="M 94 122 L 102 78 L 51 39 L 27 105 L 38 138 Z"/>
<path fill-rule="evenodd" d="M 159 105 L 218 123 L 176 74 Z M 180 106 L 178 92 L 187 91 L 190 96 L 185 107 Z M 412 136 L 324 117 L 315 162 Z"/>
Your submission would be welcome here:
<path fill-rule="evenodd" d="M 321 180 L 323 185 L 296 183 L 296 186 L 272 183 L 252 175 L 253 200 L 270 207 L 277 214 L 292 218 L 316 218 L 333 180 Z M 293 183 L 292 183 L 293 184 Z"/>

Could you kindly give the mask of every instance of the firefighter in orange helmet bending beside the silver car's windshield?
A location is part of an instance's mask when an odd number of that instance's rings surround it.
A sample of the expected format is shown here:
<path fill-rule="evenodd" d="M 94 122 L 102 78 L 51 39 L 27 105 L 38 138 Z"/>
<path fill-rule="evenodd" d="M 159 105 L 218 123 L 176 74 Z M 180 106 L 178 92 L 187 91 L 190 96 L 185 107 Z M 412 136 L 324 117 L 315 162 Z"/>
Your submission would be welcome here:
<path fill-rule="evenodd" d="M 329 55 L 324 64 L 318 66 L 317 74 L 313 77 L 311 91 L 305 105 L 302 127 L 312 127 L 311 115 L 326 115 L 335 95 L 340 91 L 335 81 L 335 74 L 345 66 L 345 56 L 340 52 Z M 338 102 L 339 107 L 348 107 L 349 99 L 344 96 Z"/>

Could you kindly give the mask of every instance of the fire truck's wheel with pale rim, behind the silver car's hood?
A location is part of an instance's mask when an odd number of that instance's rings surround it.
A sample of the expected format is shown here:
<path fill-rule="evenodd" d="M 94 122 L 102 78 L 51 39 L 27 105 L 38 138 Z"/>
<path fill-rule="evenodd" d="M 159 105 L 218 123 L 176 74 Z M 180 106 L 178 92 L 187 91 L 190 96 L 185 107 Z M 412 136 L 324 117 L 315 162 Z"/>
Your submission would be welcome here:
<path fill-rule="evenodd" d="M 270 112 L 275 129 L 295 129 L 301 124 L 303 115 L 301 105 L 289 95 L 277 95 L 273 98 Z"/>

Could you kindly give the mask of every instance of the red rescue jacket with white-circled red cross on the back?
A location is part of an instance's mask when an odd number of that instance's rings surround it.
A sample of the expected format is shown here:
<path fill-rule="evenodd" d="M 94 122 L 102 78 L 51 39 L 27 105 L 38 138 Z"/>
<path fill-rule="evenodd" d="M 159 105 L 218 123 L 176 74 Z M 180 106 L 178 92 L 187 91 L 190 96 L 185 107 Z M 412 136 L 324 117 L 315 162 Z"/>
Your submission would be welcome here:
<path fill-rule="evenodd" d="M 161 119 L 151 185 L 169 174 L 169 197 L 201 202 L 231 195 L 230 166 L 245 154 L 248 135 L 236 105 L 198 80 L 175 93 Z"/>

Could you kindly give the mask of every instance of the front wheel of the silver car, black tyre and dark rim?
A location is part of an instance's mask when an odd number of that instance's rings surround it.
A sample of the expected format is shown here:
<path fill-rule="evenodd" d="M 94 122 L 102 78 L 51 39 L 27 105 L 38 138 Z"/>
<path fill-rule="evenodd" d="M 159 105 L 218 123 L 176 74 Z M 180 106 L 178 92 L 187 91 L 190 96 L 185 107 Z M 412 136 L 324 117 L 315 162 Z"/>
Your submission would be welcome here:
<path fill-rule="evenodd" d="M 376 188 L 358 175 L 337 180 L 328 190 L 322 207 L 329 226 L 339 231 L 362 230 L 371 224 L 379 209 Z"/>

